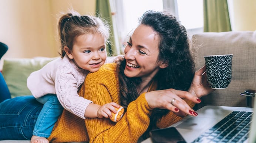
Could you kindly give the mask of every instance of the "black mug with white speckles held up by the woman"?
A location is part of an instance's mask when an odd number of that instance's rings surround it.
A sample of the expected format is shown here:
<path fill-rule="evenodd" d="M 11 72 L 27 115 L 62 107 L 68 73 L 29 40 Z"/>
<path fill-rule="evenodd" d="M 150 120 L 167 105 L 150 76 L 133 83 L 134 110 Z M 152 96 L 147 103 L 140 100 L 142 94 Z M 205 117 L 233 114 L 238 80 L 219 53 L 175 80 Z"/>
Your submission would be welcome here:
<path fill-rule="evenodd" d="M 232 79 L 232 54 L 204 56 L 206 77 L 212 89 L 225 89 Z"/>

